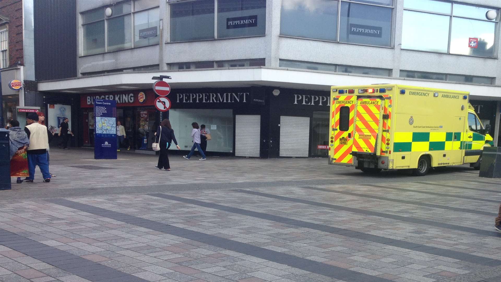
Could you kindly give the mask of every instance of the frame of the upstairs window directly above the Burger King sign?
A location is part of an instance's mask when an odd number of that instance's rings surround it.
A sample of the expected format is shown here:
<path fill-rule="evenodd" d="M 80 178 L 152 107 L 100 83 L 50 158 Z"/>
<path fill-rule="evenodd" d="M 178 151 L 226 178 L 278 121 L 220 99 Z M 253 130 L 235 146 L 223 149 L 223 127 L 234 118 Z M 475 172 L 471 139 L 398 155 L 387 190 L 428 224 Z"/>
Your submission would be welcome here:
<path fill-rule="evenodd" d="M 100 9 L 103 9 L 103 8 L 106 11 L 106 8 L 111 8 L 114 5 L 125 4 L 125 3 L 128 3 L 128 2 L 131 4 L 131 11 L 128 12 L 128 13 L 123 13 L 123 14 L 116 15 L 116 16 L 112 15 L 111 17 L 106 17 L 106 15 L 105 15 L 104 18 L 101 19 L 101 20 L 92 21 L 92 22 L 88 22 L 88 23 L 85 23 L 85 24 L 83 23 L 83 17 L 84 17 L 84 14 L 86 14 L 86 13 L 91 13 L 91 12 L 94 12 L 94 11 L 97 11 L 97 10 L 100 10 Z M 136 10 L 135 4 L 136 4 L 135 0 L 126 0 L 126 1 L 121 1 L 121 2 L 115 3 L 114 5 L 101 6 L 101 7 L 92 9 L 92 10 L 87 10 L 87 11 L 79 13 L 80 14 L 80 27 L 79 27 L 80 36 L 79 36 L 79 38 L 80 38 L 80 41 L 81 41 L 81 43 L 79 44 L 80 45 L 80 57 L 94 56 L 94 55 L 99 55 L 99 54 L 120 52 L 120 51 L 124 51 L 124 50 L 135 49 L 135 48 L 142 48 L 142 47 L 159 45 L 160 44 L 160 40 L 159 40 L 158 44 L 139 46 L 139 47 L 135 46 L 135 44 L 134 44 L 135 43 L 135 41 L 134 41 L 134 15 L 136 13 L 140 13 L 140 12 L 144 12 L 144 11 L 148 11 L 148 10 L 153 10 L 153 9 L 158 9 L 159 18 L 160 18 L 160 21 L 159 21 L 160 23 L 158 25 L 158 33 L 160 33 L 160 30 L 163 29 L 163 27 L 162 27 L 162 21 L 161 21 L 162 19 L 160 17 L 160 5 L 148 7 L 148 8 L 141 9 L 141 10 Z M 103 11 L 103 13 L 104 13 L 104 11 Z M 130 23 L 131 23 L 131 47 L 130 48 L 125 48 L 125 49 L 120 49 L 120 50 L 108 51 L 108 20 L 114 19 L 114 18 L 119 18 L 119 17 L 125 17 L 126 15 L 129 15 L 131 17 L 131 20 L 130 20 Z M 86 25 L 97 23 L 97 22 L 101 22 L 101 21 L 104 21 L 104 52 L 84 55 L 84 39 L 85 38 L 84 38 L 84 32 L 83 32 L 84 28 L 83 27 L 86 26 Z M 160 35 L 158 35 L 158 36 L 160 36 Z"/>

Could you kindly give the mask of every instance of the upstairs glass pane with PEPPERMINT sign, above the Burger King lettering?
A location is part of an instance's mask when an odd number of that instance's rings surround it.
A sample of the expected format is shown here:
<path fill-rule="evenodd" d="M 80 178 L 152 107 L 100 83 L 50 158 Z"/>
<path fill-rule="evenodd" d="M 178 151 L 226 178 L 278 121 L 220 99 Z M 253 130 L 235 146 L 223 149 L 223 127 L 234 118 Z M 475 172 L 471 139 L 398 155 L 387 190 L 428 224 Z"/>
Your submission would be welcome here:
<path fill-rule="evenodd" d="M 158 44 L 159 16 L 159 8 L 134 14 L 134 47 Z"/>

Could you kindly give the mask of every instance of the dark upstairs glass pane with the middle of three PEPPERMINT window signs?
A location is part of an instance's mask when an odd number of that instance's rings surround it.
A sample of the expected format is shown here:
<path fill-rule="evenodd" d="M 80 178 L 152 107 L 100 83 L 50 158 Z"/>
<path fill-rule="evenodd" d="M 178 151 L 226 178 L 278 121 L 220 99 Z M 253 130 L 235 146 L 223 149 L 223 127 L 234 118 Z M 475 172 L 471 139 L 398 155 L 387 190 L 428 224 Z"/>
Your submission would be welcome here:
<path fill-rule="evenodd" d="M 266 0 L 218 0 L 217 38 L 264 35 Z"/>

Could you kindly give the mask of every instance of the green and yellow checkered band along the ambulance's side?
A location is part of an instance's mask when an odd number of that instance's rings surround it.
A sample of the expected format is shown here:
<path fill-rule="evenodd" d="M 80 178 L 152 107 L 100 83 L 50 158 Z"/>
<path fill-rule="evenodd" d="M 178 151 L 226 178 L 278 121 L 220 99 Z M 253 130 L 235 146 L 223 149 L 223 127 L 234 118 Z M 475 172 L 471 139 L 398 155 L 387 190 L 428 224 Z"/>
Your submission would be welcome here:
<path fill-rule="evenodd" d="M 393 152 L 471 150 L 472 142 L 465 139 L 463 132 L 395 132 Z M 472 139 L 485 140 L 485 136 L 473 132 Z"/>

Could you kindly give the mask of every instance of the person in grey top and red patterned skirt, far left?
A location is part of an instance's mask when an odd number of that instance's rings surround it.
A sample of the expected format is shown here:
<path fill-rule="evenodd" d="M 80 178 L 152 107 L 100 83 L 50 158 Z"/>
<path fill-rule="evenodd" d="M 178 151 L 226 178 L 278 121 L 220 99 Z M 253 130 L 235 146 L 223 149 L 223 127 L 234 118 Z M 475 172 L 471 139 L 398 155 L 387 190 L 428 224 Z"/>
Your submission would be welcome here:
<path fill-rule="evenodd" d="M 11 177 L 17 177 L 16 183 L 21 183 L 23 182 L 21 177 L 30 176 L 26 153 L 26 149 L 30 145 L 30 139 L 25 130 L 19 127 L 19 121 L 16 119 L 10 120 L 7 123 L 7 129 L 10 131 Z"/>

